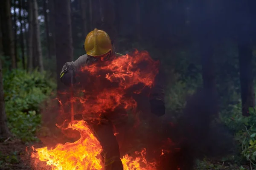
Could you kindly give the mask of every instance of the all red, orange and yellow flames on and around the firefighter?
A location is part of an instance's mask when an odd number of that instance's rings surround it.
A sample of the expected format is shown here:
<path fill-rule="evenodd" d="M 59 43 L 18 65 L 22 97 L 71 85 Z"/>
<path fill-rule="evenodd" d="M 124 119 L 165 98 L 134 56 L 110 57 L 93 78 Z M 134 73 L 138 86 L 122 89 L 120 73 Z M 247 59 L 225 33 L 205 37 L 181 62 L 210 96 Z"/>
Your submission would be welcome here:
<path fill-rule="evenodd" d="M 100 156 L 102 147 L 90 130 L 88 120 L 100 119 L 102 113 L 114 111 L 120 106 L 125 110 L 136 108 L 137 103 L 131 95 L 126 96 L 127 89 L 143 84 L 142 88 L 133 91 L 139 94 L 143 88 L 151 88 L 158 73 L 158 64 L 146 51 L 135 51 L 132 55 L 118 57 L 104 65 L 97 63 L 81 68 L 81 72 L 87 72 L 95 79 L 103 77 L 105 81 L 117 85 L 96 92 L 92 90 L 87 93 L 85 89 L 85 91 L 80 90 L 74 93 L 73 98 L 68 101 L 74 106 L 74 113 L 70 114 L 81 114 L 85 120 L 71 121 L 66 127 L 60 128 L 79 131 L 80 139 L 73 143 L 57 144 L 54 148 L 33 148 L 31 159 L 35 168 L 38 170 L 103 170 Z M 87 95 L 77 95 L 81 92 Z M 61 105 L 69 103 L 61 102 Z M 146 149 L 141 148 L 140 152 L 135 152 L 134 157 L 128 154 L 123 156 L 121 160 L 124 170 L 156 170 L 157 164 L 148 162 L 145 154 Z"/>

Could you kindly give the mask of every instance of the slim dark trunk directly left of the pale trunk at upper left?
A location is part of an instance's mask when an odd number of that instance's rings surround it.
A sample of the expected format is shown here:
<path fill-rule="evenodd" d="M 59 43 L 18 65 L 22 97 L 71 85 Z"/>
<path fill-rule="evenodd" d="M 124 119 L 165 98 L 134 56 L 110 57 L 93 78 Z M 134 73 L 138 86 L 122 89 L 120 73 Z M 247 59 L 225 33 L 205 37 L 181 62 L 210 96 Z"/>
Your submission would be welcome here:
<path fill-rule="evenodd" d="M 27 68 L 28 71 L 31 72 L 33 70 L 33 6 L 32 1 L 28 1 L 29 6 L 29 15 L 28 15 L 28 23 L 29 23 L 29 31 L 28 31 L 28 59 L 27 59 Z"/>

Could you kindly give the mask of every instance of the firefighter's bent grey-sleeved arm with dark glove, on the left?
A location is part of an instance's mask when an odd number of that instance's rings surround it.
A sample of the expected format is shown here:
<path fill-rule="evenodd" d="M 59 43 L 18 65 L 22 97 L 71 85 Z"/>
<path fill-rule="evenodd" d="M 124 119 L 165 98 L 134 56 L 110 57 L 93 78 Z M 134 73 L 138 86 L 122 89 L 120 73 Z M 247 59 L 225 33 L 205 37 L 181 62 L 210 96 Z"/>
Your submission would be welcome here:
<path fill-rule="evenodd" d="M 62 70 L 61 70 L 61 74 L 60 74 L 61 82 L 63 82 L 63 84 L 67 86 L 70 86 L 72 83 L 75 83 L 76 72 L 78 72 L 82 66 L 86 65 L 86 63 L 87 63 L 86 54 L 80 56 L 78 59 L 76 59 L 76 61 L 66 62 L 66 64 L 62 67 Z"/>

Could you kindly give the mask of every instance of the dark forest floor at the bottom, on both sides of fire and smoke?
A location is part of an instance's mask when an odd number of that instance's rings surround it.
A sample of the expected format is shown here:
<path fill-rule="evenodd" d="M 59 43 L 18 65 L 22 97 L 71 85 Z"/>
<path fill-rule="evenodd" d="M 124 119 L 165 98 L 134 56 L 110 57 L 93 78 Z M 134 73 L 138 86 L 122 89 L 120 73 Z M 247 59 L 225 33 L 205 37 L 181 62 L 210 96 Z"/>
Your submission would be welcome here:
<path fill-rule="evenodd" d="M 26 153 L 26 147 L 43 147 L 42 142 L 25 144 L 19 139 L 10 139 L 0 143 L 0 170 L 34 170 Z M 249 166 L 237 166 L 232 162 L 204 160 L 195 170 L 250 170 Z"/>

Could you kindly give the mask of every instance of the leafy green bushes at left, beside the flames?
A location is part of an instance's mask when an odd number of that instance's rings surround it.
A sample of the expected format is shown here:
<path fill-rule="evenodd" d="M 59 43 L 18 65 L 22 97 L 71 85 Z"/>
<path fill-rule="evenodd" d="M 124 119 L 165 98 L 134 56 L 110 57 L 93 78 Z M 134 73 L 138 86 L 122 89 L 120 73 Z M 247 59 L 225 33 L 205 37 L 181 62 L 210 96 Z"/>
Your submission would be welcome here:
<path fill-rule="evenodd" d="M 40 106 L 52 93 L 54 83 L 45 73 L 12 70 L 3 75 L 3 85 L 6 115 L 12 133 L 23 141 L 35 140 L 41 122 Z"/>

